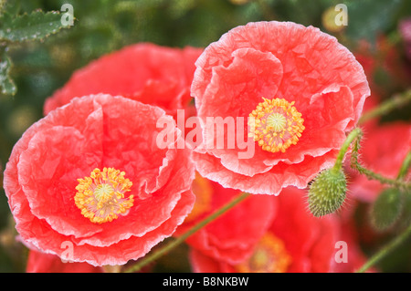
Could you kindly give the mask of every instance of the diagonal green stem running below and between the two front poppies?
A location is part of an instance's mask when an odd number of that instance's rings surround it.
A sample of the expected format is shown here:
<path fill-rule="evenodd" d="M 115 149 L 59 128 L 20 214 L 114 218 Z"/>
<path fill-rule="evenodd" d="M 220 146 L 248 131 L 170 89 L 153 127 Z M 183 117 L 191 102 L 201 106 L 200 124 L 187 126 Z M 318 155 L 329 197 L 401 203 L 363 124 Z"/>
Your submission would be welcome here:
<path fill-rule="evenodd" d="M 229 209 L 233 208 L 235 205 L 238 203 L 242 202 L 244 199 L 248 198 L 251 196 L 249 193 L 242 192 L 240 193 L 237 197 L 235 197 L 233 200 L 231 200 L 229 203 L 223 205 L 223 207 L 219 208 L 216 210 L 216 212 L 211 213 L 205 219 L 203 219 L 201 222 L 195 224 L 192 228 L 190 228 L 188 231 L 186 231 L 184 234 L 178 236 L 176 239 L 171 241 L 168 244 L 165 244 L 161 249 L 157 250 L 155 253 L 146 255 L 142 258 L 140 262 L 138 262 L 135 265 L 132 265 L 128 269 L 124 271 L 124 273 L 132 273 L 132 272 L 138 272 L 139 270 L 142 269 L 144 265 L 148 265 L 161 257 L 162 255 L 165 255 L 166 253 L 170 252 L 171 250 L 174 249 L 179 244 L 184 243 L 184 241 L 192 234 L 194 234 L 196 231 L 204 227 L 206 224 L 211 223 L 214 221 L 217 217 L 222 215 L 223 213 L 226 213 Z"/>

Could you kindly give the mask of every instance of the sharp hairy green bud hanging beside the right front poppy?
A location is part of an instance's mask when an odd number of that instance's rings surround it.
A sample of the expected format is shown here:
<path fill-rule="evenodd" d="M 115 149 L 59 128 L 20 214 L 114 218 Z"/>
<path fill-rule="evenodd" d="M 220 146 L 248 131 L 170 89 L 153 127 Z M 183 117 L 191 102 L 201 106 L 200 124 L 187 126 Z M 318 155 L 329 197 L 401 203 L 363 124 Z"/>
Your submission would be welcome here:
<path fill-rule="evenodd" d="M 309 208 L 312 215 L 320 217 L 339 209 L 345 200 L 347 182 L 342 170 L 327 169 L 311 183 Z"/>

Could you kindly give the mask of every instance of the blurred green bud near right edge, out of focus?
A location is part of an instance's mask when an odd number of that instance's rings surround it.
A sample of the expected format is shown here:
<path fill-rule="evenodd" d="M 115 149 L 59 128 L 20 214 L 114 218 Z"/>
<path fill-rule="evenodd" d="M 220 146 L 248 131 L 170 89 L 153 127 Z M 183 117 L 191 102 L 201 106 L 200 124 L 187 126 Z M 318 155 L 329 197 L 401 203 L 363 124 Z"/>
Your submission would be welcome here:
<path fill-rule="evenodd" d="M 385 231 L 395 224 L 402 212 L 402 193 L 395 188 L 383 191 L 375 200 L 371 218 L 378 231 Z"/>

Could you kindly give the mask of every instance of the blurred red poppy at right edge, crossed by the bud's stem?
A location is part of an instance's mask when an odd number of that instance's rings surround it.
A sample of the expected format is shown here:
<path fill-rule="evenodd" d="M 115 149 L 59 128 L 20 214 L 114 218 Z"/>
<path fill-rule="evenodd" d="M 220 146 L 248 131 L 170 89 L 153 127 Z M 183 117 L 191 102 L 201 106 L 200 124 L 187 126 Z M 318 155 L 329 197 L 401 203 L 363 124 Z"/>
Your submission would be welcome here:
<path fill-rule="evenodd" d="M 395 179 L 401 164 L 410 151 L 411 125 L 404 121 L 393 121 L 382 125 L 367 126 L 361 142 L 360 161 L 367 169 Z M 372 202 L 385 186 L 364 175 L 349 171 L 349 191 L 356 198 Z"/>

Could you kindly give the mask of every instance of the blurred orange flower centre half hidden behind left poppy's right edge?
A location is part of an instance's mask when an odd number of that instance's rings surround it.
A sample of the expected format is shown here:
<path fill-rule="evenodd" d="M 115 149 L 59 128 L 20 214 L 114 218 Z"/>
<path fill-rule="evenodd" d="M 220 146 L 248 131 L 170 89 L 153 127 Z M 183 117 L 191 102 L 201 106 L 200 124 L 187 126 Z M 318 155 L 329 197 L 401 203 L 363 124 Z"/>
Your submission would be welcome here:
<path fill-rule="evenodd" d="M 195 180 L 191 185 L 191 190 L 195 194 L 195 205 L 192 212 L 185 218 L 185 223 L 192 222 L 201 214 L 211 210 L 213 186 L 207 179 L 200 176 L 198 172 L 195 172 Z"/>

